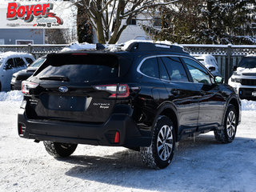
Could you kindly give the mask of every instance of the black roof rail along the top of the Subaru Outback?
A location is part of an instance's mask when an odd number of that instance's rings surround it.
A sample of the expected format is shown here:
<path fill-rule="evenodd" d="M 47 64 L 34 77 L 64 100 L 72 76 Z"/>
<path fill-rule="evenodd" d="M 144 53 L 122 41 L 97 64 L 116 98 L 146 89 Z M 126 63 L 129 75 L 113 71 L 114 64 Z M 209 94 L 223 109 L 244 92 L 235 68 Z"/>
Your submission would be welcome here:
<path fill-rule="evenodd" d="M 180 54 L 188 54 L 181 46 L 167 45 L 162 43 L 154 42 L 132 42 L 127 48 L 126 51 L 168 51 L 176 52 Z"/>

